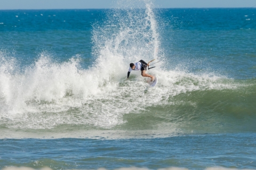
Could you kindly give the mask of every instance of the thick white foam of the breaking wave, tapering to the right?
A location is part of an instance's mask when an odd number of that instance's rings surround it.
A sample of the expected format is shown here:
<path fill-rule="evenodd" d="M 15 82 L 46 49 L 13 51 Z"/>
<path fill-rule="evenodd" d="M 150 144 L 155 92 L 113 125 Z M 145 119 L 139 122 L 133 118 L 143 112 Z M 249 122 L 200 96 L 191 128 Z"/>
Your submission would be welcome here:
<path fill-rule="evenodd" d="M 140 72 L 131 73 L 131 79 L 125 81 L 126 63 L 116 65 L 111 55 L 104 59 L 83 70 L 79 69 L 79 58 L 54 63 L 41 54 L 24 72 L 15 72 L 13 58 L 3 62 L 1 122 L 18 129 L 52 129 L 63 124 L 111 129 L 125 123 L 124 114 L 170 105 L 169 98 L 181 93 L 236 88 L 236 84 L 222 83 L 219 77 L 160 69 L 150 71 L 157 75 L 159 84 L 148 88 Z"/>

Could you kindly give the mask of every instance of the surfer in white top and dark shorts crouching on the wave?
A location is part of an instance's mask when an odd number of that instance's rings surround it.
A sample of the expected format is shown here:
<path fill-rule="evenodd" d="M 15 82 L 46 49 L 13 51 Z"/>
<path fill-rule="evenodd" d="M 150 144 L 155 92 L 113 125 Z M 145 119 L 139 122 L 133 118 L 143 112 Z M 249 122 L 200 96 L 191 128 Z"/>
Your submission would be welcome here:
<path fill-rule="evenodd" d="M 154 81 L 154 76 L 150 75 L 150 74 L 146 74 L 146 71 L 147 71 L 147 66 L 149 64 L 146 63 L 145 61 L 143 60 L 140 60 L 139 62 L 137 63 L 130 63 L 130 67 L 129 67 L 129 71 L 127 73 L 127 79 L 129 79 L 129 75 L 131 73 L 132 70 L 141 70 L 141 75 L 143 77 L 149 77 L 151 78 L 151 81 Z"/>

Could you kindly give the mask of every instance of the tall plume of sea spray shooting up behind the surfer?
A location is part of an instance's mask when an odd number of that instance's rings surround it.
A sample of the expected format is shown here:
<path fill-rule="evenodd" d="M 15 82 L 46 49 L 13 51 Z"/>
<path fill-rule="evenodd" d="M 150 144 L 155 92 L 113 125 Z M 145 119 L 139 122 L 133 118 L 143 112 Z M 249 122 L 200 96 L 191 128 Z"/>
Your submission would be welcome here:
<path fill-rule="evenodd" d="M 104 70 L 105 79 L 113 74 L 121 78 L 131 62 L 158 58 L 159 36 L 153 4 L 150 1 L 117 4 L 106 12 L 106 20 L 93 25 L 95 66 Z"/>

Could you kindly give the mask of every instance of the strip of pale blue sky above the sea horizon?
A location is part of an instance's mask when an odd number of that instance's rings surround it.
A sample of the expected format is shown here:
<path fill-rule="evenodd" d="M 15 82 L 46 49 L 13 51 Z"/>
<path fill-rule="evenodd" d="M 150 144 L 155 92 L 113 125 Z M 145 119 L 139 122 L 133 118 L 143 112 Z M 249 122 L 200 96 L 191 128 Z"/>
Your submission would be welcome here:
<path fill-rule="evenodd" d="M 0 0 L 0 10 L 113 8 L 116 1 L 118 0 Z M 153 2 L 155 7 L 162 8 L 256 7 L 256 0 L 153 0 Z"/>

